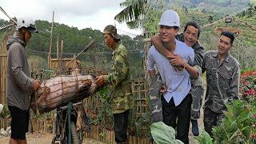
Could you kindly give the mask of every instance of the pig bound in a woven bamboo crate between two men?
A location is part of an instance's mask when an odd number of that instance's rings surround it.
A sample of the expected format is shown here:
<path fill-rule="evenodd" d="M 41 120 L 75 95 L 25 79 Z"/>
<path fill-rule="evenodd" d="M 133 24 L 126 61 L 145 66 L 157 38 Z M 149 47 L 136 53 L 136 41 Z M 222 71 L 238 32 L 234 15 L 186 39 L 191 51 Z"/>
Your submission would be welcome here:
<path fill-rule="evenodd" d="M 30 107 L 35 114 L 66 106 L 68 102 L 78 102 L 98 91 L 93 75 L 58 76 L 44 80 L 41 88 L 30 98 Z"/>

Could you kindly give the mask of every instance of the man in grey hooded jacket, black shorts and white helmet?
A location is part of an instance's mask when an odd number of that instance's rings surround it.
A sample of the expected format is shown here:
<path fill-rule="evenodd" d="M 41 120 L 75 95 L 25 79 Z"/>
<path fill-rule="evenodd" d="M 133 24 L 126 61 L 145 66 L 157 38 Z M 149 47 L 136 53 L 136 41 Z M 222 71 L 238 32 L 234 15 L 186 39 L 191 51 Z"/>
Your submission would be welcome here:
<path fill-rule="evenodd" d="M 18 31 L 7 41 L 7 105 L 11 115 L 10 144 L 25 144 L 29 126 L 30 90 L 39 90 L 38 80 L 30 78 L 26 44 L 37 33 L 34 21 L 19 18 Z"/>

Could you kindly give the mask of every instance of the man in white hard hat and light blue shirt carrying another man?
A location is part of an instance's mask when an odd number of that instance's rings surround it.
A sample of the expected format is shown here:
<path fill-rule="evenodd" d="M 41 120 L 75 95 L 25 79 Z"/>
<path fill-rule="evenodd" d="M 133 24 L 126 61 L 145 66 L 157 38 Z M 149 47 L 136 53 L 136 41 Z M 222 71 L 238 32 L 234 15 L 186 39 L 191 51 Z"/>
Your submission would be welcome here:
<path fill-rule="evenodd" d="M 178 34 L 180 20 L 174 10 L 166 10 L 160 19 L 160 38 L 166 49 L 172 54 L 178 54 L 184 62 L 193 65 L 194 50 L 184 42 L 175 39 Z M 174 62 L 176 64 L 177 62 Z M 163 86 L 161 97 L 163 122 L 177 130 L 177 138 L 184 143 L 189 143 L 190 107 L 191 107 L 191 82 L 190 75 L 198 77 L 196 70 L 186 68 L 182 70 L 170 65 L 168 58 L 160 54 L 154 46 L 150 47 L 147 56 L 147 68 L 150 77 L 154 78 L 157 66 L 161 75 Z M 178 120 L 177 120 L 178 119 Z"/>

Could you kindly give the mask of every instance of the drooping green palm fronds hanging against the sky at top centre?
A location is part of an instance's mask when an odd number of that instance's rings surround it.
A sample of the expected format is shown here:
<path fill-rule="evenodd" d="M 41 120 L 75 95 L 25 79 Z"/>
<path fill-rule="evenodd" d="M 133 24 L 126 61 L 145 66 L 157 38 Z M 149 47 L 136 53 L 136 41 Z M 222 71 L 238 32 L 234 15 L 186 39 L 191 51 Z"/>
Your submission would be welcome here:
<path fill-rule="evenodd" d="M 149 10 L 148 0 L 126 0 L 120 3 L 120 6 L 126 8 L 117 14 L 114 20 L 126 22 L 131 29 L 142 27 L 143 16 Z"/>

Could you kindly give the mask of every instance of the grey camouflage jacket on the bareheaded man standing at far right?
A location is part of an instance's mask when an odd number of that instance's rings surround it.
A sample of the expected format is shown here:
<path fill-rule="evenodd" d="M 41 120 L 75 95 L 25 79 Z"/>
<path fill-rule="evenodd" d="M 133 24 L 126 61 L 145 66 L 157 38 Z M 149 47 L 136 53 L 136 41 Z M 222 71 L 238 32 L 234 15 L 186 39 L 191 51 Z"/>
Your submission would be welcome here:
<path fill-rule="evenodd" d="M 215 113 L 226 110 L 224 102 L 231 104 L 232 99 L 238 98 L 240 82 L 240 65 L 230 54 L 223 62 L 218 60 L 218 51 L 207 51 L 202 62 L 202 72 L 206 70 L 206 102 Z"/>

